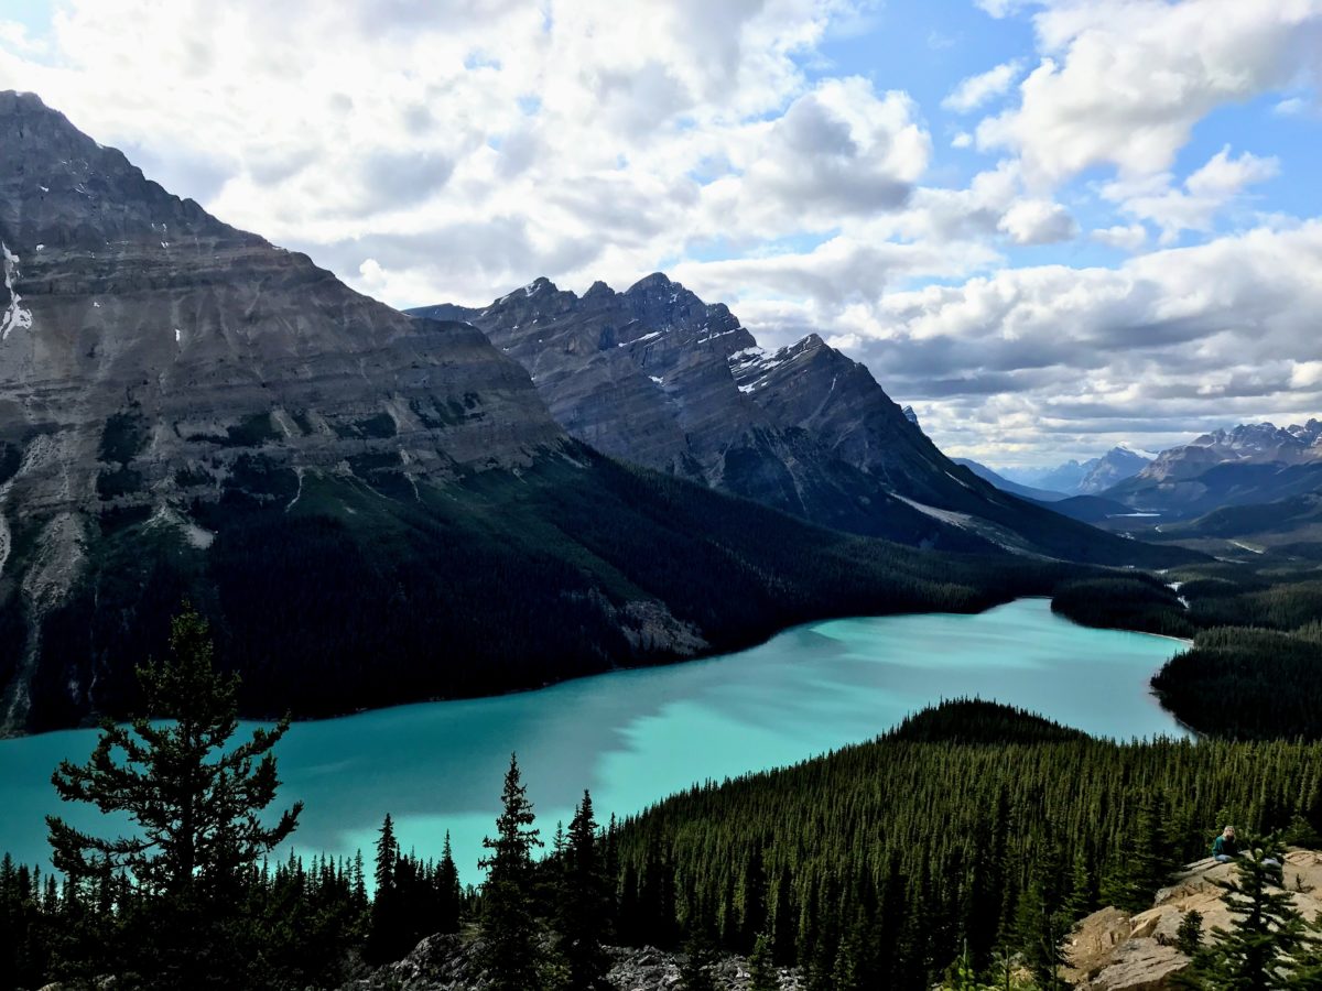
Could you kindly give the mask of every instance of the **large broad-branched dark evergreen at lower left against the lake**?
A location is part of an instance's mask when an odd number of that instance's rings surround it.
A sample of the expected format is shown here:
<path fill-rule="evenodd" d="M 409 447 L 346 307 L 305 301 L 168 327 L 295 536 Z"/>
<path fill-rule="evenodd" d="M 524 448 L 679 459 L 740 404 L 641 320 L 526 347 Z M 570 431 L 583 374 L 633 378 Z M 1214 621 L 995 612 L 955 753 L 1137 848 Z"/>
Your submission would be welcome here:
<path fill-rule="evenodd" d="M 247 876 L 303 807 L 262 822 L 279 786 L 272 748 L 290 721 L 226 749 L 239 679 L 214 670 L 206 621 L 186 603 L 171 624 L 169 658 L 139 667 L 137 679 L 147 714 L 104 723 L 87 764 L 62 761 L 52 776 L 63 801 L 127 811 L 136 831 L 102 839 L 46 817 L 52 860 L 75 885 L 131 875 L 137 916 L 126 943 L 144 983 L 233 986 L 254 955 L 237 920 Z"/>

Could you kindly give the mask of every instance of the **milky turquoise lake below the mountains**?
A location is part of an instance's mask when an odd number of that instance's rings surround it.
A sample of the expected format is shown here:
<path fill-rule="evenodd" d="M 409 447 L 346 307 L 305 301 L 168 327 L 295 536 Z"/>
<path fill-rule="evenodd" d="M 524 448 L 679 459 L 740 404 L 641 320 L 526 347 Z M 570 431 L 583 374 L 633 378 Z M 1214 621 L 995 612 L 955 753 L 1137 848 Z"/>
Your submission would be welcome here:
<path fill-rule="evenodd" d="M 1076 626 L 1046 599 L 977 616 L 830 620 L 709 661 L 299 723 L 278 751 L 282 797 L 305 802 L 300 852 L 361 847 L 370 862 L 389 811 L 405 850 L 424 856 L 439 855 L 448 830 L 464 881 L 476 881 L 512 752 L 549 839 L 584 788 L 604 821 L 695 782 L 869 740 L 956 696 L 1013 703 L 1099 736 L 1183 735 L 1147 688 L 1181 646 Z M 95 737 L 0 741 L 0 851 L 48 865 L 42 817 L 53 811 L 104 831 L 95 813 L 61 809 L 50 786 L 54 765 L 86 760 Z"/>

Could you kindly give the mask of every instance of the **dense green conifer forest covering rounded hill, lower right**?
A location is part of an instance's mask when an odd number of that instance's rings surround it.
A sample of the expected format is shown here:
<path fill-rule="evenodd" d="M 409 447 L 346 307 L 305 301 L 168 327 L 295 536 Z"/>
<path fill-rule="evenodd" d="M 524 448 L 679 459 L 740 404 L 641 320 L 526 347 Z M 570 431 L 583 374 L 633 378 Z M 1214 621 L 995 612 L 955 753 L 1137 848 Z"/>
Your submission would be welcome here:
<path fill-rule="evenodd" d="M 1069 736 L 947 704 L 669 798 L 620 830 L 619 932 L 711 933 L 742 953 L 765 933 L 820 991 L 929 987 L 965 953 L 978 971 L 1022 954 L 1046 982 L 1072 921 L 1150 905 L 1224 823 L 1296 842 L 1322 830 L 1319 744 Z"/>

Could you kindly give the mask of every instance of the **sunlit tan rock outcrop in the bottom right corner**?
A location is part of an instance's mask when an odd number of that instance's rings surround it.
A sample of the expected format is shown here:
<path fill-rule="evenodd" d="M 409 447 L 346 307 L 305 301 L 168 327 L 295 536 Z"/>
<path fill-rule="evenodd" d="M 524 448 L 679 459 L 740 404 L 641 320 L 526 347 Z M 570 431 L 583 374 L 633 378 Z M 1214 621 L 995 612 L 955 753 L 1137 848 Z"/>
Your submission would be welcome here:
<path fill-rule="evenodd" d="M 1175 934 L 1186 913 L 1203 917 L 1203 941 L 1214 929 L 1231 929 L 1233 916 L 1222 901 L 1219 880 L 1233 864 L 1200 860 L 1190 864 L 1175 883 L 1157 893 L 1153 908 L 1128 916 L 1104 908 L 1080 921 L 1067 941 L 1066 979 L 1087 991 L 1166 991 L 1190 959 L 1175 947 Z M 1285 858 L 1284 887 L 1305 918 L 1322 913 L 1322 854 L 1290 850 Z"/>

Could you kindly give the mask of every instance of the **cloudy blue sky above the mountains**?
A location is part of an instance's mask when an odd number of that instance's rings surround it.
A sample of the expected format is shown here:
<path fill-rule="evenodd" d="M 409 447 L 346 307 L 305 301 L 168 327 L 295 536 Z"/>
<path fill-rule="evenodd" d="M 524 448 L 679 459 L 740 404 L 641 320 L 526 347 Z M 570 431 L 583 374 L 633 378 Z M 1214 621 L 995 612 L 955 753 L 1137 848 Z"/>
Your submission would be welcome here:
<path fill-rule="evenodd" d="M 0 0 L 0 89 L 398 307 L 664 270 L 1048 464 L 1322 415 L 1322 0 Z"/>

